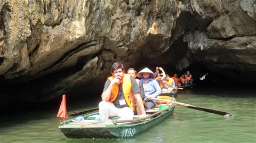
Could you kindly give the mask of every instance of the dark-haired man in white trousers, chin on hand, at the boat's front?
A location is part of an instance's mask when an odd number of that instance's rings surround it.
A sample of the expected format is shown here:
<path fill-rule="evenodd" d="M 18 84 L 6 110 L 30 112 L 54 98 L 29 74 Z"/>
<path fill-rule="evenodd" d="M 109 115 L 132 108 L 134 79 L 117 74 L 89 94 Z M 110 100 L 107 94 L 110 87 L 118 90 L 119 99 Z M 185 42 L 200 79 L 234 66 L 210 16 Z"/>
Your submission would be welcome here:
<path fill-rule="evenodd" d="M 136 101 L 141 100 L 140 88 L 130 74 L 124 73 L 121 63 L 116 62 L 111 66 L 111 74 L 105 82 L 102 101 L 99 103 L 100 120 L 106 121 L 109 116 L 118 116 L 118 120 L 131 120 Z M 137 102 L 137 106 L 143 109 L 142 102 Z"/>

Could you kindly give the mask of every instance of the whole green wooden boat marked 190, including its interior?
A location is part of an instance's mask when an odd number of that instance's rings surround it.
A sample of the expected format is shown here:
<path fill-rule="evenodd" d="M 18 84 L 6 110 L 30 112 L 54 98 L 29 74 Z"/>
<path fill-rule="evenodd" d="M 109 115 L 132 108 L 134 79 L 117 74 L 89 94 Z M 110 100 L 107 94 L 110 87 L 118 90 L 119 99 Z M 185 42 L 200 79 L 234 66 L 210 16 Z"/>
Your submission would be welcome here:
<path fill-rule="evenodd" d="M 76 122 L 75 118 L 62 121 L 59 129 L 67 138 L 132 138 L 165 120 L 173 114 L 174 108 L 172 103 L 161 104 L 147 111 L 143 117 L 135 115 L 133 120 L 110 117 L 105 122 L 95 120 L 99 112 L 94 111 L 81 115 L 84 118 L 81 122 Z"/>

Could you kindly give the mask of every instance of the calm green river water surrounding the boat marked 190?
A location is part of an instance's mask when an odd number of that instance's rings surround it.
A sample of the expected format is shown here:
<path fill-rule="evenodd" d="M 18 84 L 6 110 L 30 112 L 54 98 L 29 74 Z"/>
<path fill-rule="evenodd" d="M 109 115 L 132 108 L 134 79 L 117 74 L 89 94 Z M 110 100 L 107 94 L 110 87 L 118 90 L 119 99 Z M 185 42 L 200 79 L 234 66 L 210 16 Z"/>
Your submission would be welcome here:
<path fill-rule="evenodd" d="M 68 95 L 67 95 L 68 97 Z M 58 129 L 59 104 L 22 114 L 1 115 L 0 142 L 256 142 L 256 92 L 251 88 L 179 90 L 178 102 L 230 112 L 233 117 L 177 105 L 174 115 L 132 139 L 67 139 Z M 99 99 L 67 98 L 68 114 L 98 105 Z"/>

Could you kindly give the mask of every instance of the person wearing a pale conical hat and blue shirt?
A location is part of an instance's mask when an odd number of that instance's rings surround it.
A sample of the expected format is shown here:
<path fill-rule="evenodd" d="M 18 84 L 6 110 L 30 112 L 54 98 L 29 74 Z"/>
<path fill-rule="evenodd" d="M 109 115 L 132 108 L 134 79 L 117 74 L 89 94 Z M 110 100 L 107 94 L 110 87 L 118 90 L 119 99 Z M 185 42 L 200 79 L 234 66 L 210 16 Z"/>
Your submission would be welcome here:
<path fill-rule="evenodd" d="M 150 98 L 150 97 L 156 98 L 158 95 L 162 93 L 161 87 L 159 86 L 158 82 L 154 80 L 155 76 L 156 76 L 155 73 L 153 73 L 148 68 L 145 68 L 137 73 L 137 77 L 141 78 L 140 81 L 142 82 L 145 96 L 147 98 Z M 155 106 L 154 100 L 146 101 L 146 110 L 154 106 Z"/>

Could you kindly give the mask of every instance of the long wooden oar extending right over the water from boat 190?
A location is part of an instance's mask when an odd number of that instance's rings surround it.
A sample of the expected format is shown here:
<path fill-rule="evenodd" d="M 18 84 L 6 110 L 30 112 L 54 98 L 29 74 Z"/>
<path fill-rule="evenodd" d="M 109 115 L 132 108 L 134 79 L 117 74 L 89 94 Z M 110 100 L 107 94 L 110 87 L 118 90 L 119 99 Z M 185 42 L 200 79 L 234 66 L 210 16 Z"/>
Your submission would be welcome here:
<path fill-rule="evenodd" d="M 190 105 L 190 104 L 180 103 L 180 102 L 173 102 L 171 100 L 166 100 L 166 99 L 158 99 L 158 98 L 150 98 L 150 99 L 160 100 L 160 101 L 164 101 L 164 102 L 167 102 L 167 103 L 179 104 L 179 105 L 185 106 L 187 108 L 192 108 L 192 109 L 195 109 L 195 110 L 200 110 L 200 111 L 204 111 L 204 112 L 214 113 L 214 114 L 218 114 L 218 115 L 232 116 L 231 113 L 228 113 L 228 112 L 225 112 L 225 111 L 212 110 L 210 108 L 198 107 L 198 106 L 195 106 L 195 105 Z"/>

